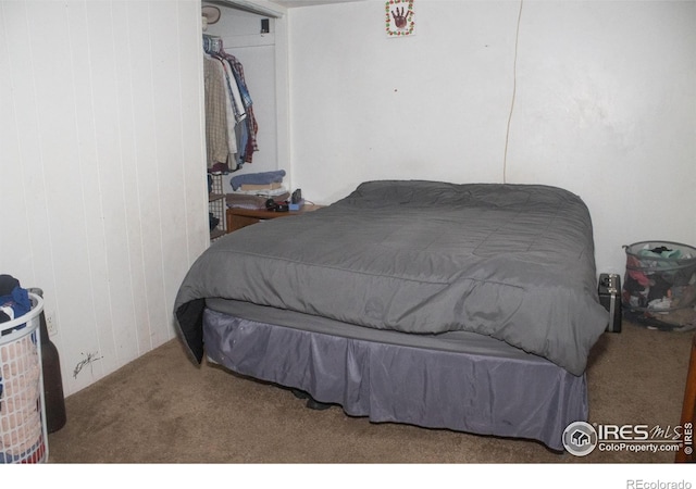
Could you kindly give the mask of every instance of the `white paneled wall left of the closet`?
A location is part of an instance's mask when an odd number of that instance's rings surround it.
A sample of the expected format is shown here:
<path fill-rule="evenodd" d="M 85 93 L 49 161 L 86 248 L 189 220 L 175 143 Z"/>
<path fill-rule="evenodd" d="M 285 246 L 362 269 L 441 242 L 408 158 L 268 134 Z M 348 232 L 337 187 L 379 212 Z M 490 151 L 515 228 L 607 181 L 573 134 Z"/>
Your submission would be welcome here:
<path fill-rule="evenodd" d="M 200 2 L 0 1 L 0 273 L 73 393 L 174 337 L 209 243 Z"/>

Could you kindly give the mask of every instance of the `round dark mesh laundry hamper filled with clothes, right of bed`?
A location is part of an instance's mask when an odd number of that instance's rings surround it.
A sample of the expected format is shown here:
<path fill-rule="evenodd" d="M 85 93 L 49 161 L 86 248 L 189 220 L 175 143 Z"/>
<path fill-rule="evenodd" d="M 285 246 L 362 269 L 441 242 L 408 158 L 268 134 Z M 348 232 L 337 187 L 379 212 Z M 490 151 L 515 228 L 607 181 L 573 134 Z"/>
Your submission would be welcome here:
<path fill-rule="evenodd" d="M 658 329 L 695 329 L 696 248 L 673 241 L 641 241 L 623 248 L 624 317 Z"/>

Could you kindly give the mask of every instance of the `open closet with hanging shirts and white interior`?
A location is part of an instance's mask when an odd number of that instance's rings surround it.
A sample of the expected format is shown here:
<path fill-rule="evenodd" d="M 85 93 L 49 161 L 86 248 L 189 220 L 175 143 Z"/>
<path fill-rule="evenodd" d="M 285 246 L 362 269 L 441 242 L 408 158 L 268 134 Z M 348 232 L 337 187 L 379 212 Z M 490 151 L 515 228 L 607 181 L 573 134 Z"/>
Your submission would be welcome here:
<path fill-rule="evenodd" d="M 227 231 L 233 177 L 284 171 L 291 188 L 286 16 L 243 0 L 203 1 L 201 27 L 212 241 Z"/>

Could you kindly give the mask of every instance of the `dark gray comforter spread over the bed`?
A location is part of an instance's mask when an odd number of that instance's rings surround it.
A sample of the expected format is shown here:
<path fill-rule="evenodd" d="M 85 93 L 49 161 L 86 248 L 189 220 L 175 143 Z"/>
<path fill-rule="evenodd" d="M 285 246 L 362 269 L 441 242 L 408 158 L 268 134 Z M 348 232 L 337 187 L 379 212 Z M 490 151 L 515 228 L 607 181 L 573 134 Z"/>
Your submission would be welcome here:
<path fill-rule="evenodd" d="M 532 185 L 369 181 L 314 212 L 246 227 L 191 266 L 175 301 L 201 361 L 206 298 L 419 335 L 488 335 L 582 375 L 605 330 L 582 200 Z"/>

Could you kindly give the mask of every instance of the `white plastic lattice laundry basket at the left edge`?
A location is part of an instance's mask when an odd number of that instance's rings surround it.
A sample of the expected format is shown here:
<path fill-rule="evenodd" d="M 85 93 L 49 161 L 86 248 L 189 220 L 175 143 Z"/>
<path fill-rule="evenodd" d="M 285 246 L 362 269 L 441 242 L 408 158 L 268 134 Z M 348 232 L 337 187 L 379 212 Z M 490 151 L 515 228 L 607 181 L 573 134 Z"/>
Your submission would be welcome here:
<path fill-rule="evenodd" d="M 0 464 L 48 460 L 39 335 L 44 299 L 28 296 L 28 313 L 0 323 Z"/>

